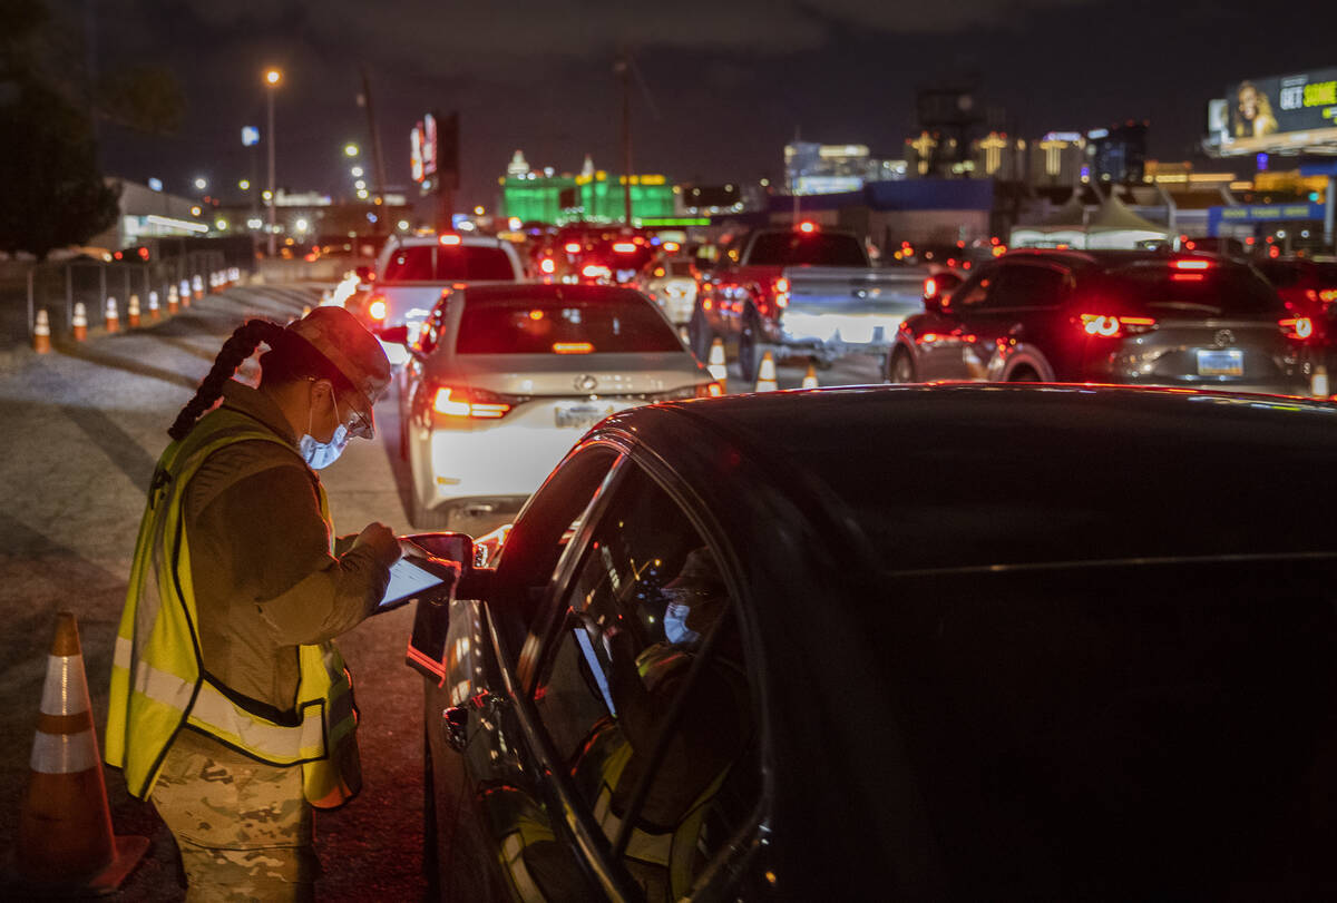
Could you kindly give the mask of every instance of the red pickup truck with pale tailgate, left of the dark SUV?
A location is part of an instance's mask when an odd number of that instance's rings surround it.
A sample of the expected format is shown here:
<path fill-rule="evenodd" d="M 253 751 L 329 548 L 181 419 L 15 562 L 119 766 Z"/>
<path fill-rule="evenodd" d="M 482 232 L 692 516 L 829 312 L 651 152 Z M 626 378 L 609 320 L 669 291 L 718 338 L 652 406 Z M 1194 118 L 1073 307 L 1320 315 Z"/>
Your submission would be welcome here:
<path fill-rule="evenodd" d="M 822 366 L 845 354 L 885 354 L 901 321 L 924 309 L 923 267 L 873 267 L 853 232 L 804 222 L 745 235 L 703 277 L 687 323 L 702 361 L 715 338 L 737 345 L 753 381 L 766 345 Z"/>

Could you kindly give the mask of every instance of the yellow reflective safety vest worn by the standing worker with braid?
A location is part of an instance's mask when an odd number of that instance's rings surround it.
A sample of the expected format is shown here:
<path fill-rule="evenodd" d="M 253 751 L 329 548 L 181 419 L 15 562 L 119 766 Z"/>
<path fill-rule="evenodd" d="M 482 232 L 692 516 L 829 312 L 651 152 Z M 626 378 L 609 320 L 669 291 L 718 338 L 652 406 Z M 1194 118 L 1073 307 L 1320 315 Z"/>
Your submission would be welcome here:
<path fill-rule="evenodd" d="M 103 744 L 107 764 L 124 771 L 130 793 L 140 799 L 187 725 L 258 761 L 301 765 L 313 805 L 332 808 L 361 789 L 353 683 L 333 643 L 297 648 L 297 701 L 285 713 L 251 711 L 203 667 L 182 512 L 186 486 L 210 454 L 254 439 L 287 445 L 250 417 L 219 409 L 168 445 L 154 473 L 116 632 Z M 330 524 L 324 488 L 320 500 Z"/>

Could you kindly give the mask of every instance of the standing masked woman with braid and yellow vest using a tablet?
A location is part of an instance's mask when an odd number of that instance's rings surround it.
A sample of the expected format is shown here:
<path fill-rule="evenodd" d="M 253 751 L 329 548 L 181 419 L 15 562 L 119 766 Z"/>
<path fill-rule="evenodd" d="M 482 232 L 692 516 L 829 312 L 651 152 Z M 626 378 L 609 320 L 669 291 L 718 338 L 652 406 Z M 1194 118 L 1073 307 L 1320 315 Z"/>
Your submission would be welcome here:
<path fill-rule="evenodd" d="M 259 386 L 233 379 L 262 343 Z M 336 538 L 317 472 L 372 438 L 389 381 L 341 307 L 286 329 L 253 319 L 168 430 L 103 748 L 172 831 L 193 898 L 309 899 L 312 807 L 361 787 L 333 640 L 372 613 L 400 550 L 384 524 Z"/>

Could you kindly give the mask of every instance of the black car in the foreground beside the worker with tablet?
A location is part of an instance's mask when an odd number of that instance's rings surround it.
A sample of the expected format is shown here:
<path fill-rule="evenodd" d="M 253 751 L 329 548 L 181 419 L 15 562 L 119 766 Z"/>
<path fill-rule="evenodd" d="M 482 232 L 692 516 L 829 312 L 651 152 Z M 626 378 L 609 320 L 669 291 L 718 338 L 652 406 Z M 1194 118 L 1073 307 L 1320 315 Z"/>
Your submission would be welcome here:
<path fill-rule="evenodd" d="M 437 890 L 1337 899 L 1333 460 L 1257 395 L 618 414 L 420 604 Z"/>

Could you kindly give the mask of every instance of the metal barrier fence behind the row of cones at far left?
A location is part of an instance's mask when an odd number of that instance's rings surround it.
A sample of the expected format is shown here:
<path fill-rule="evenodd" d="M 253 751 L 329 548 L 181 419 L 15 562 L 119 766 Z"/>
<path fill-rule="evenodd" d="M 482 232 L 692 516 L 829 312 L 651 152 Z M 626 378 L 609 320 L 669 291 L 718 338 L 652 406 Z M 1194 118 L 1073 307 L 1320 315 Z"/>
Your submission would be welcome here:
<path fill-rule="evenodd" d="M 162 315 L 167 315 L 167 301 L 172 289 L 182 294 L 214 291 L 225 282 L 239 277 L 229 267 L 221 251 L 187 251 L 159 260 L 102 262 L 88 258 L 39 263 L 27 270 L 25 285 L 0 286 L 3 298 L 4 335 L 12 342 L 31 341 L 37 311 L 45 310 L 51 334 L 72 331 L 75 305 L 87 311 L 88 325 L 99 326 L 107 311 L 108 299 L 116 301 L 122 321 L 127 315 L 130 298 L 138 297 L 142 317 L 150 318 L 151 299 L 156 301 Z"/>

